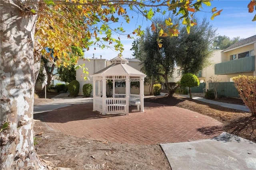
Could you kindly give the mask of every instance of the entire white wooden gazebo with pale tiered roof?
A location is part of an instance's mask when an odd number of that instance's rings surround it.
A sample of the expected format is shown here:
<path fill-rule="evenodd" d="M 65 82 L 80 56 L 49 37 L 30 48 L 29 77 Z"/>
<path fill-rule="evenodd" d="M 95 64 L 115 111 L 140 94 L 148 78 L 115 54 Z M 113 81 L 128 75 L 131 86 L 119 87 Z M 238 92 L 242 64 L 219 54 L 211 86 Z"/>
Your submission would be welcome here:
<path fill-rule="evenodd" d="M 93 111 L 99 111 L 103 115 L 107 113 L 128 114 L 130 105 L 137 106 L 138 111 L 144 111 L 146 74 L 129 66 L 128 60 L 122 57 L 116 57 L 110 62 L 110 66 L 90 75 L 93 78 Z M 113 82 L 112 97 L 108 98 L 106 96 L 107 80 Z M 123 83 L 125 93 L 116 93 L 116 84 L 120 82 Z M 140 82 L 139 94 L 131 94 L 130 82 Z"/>

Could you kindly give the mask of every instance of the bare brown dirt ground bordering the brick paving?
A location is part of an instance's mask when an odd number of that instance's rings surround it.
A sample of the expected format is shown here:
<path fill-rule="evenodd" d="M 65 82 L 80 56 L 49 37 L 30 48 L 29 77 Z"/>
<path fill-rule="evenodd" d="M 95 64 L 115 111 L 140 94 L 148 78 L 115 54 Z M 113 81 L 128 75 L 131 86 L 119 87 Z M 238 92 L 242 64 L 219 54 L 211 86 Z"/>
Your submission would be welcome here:
<path fill-rule="evenodd" d="M 38 102 L 37 100 L 41 99 L 35 98 L 35 103 Z M 256 119 L 250 117 L 250 113 L 206 104 L 178 95 L 146 98 L 144 101 L 183 107 L 208 115 L 221 121 L 225 125 L 224 131 L 256 142 Z M 234 98 L 227 98 L 224 101 L 243 104 L 241 100 Z M 50 161 L 51 165 L 55 167 L 66 167 L 74 170 L 171 169 L 159 145 L 91 141 L 54 131 L 41 121 L 34 122 L 34 133 L 36 135 L 35 147 L 39 157 L 45 161 Z"/>

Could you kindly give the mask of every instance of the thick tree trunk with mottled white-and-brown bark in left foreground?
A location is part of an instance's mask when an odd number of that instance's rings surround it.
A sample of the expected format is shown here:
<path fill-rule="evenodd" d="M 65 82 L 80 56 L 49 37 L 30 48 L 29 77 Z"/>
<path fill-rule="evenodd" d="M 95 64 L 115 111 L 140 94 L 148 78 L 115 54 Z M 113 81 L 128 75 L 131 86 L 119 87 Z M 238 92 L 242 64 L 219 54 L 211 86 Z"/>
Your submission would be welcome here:
<path fill-rule="evenodd" d="M 1 0 L 1 169 L 44 169 L 34 149 L 34 33 L 38 1 Z"/>

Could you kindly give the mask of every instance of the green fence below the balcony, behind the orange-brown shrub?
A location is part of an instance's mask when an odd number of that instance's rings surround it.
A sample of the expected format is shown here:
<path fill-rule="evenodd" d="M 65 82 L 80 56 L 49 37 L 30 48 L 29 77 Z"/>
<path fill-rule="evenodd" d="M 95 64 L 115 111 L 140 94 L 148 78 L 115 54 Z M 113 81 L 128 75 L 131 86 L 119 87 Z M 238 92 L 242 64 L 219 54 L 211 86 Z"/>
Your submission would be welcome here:
<path fill-rule="evenodd" d="M 218 95 L 224 95 L 228 97 L 239 98 L 238 91 L 234 85 L 234 82 L 216 82 Z M 213 89 L 213 84 L 209 83 L 209 88 Z"/>

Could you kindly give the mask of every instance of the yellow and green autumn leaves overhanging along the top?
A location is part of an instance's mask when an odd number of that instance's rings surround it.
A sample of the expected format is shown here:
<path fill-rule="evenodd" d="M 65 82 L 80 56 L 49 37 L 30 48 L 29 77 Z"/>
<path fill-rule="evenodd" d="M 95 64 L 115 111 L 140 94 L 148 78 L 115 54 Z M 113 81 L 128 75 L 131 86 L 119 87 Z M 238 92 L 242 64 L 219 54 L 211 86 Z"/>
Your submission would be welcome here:
<path fill-rule="evenodd" d="M 202 5 L 210 6 L 209 1 L 193 1 L 193 0 L 162 0 L 162 1 L 129 1 L 129 0 L 44 0 L 40 1 L 38 10 L 31 9 L 30 11 L 38 14 L 36 23 L 36 51 L 42 52 L 43 55 L 50 56 L 44 48 L 53 49 L 54 57 L 63 56 L 57 60 L 56 64 L 66 64 L 65 58 L 68 58 L 68 52 L 72 46 L 79 46 L 89 50 L 91 45 L 99 48 L 113 47 L 116 51 L 123 51 L 123 45 L 120 41 L 120 35 L 126 35 L 131 38 L 131 35 L 143 35 L 144 31 L 141 26 L 132 31 L 125 33 L 124 28 L 118 26 L 110 27 L 111 23 L 119 21 L 119 17 L 129 23 L 128 10 L 142 14 L 148 20 L 152 20 L 156 14 L 166 14 L 166 11 L 172 11 L 176 14 L 183 24 L 186 25 L 187 31 L 190 27 L 196 24 L 193 18 L 195 12 L 200 11 Z M 162 10 L 162 8 L 166 10 Z M 220 14 L 216 8 L 212 9 L 213 18 Z M 99 26 L 100 25 L 100 26 Z M 152 31 L 160 25 L 154 22 L 151 25 Z M 167 18 L 162 29 L 159 31 L 159 36 L 176 36 L 178 35 L 178 24 L 172 23 L 170 18 Z M 168 29 L 164 29 L 168 27 Z M 118 38 L 113 37 L 113 31 L 118 32 Z M 106 43 L 104 43 L 106 42 Z M 107 44 L 107 45 L 106 45 Z M 114 46 L 111 46 L 114 44 Z M 161 39 L 158 39 L 158 45 L 161 45 Z M 94 48 L 96 49 L 96 47 Z"/>

